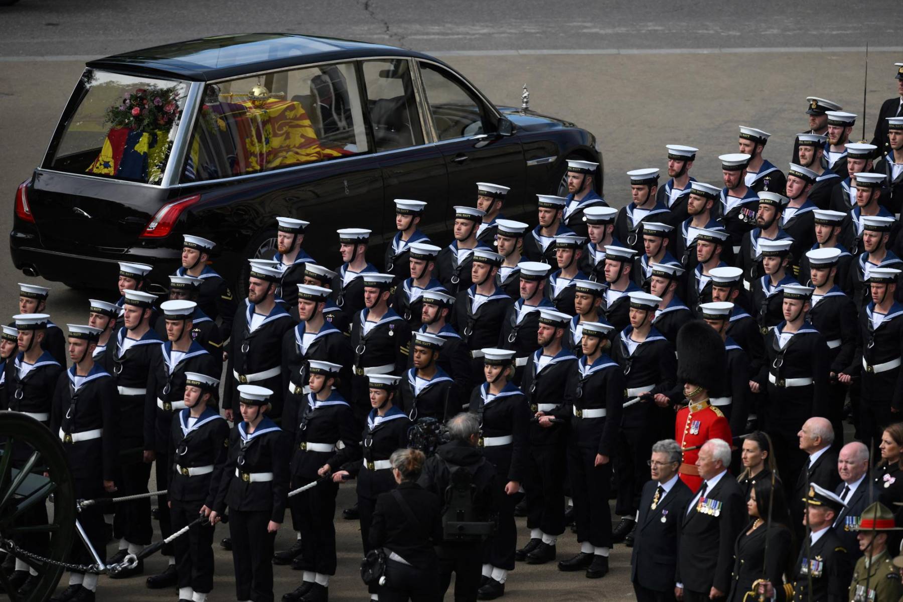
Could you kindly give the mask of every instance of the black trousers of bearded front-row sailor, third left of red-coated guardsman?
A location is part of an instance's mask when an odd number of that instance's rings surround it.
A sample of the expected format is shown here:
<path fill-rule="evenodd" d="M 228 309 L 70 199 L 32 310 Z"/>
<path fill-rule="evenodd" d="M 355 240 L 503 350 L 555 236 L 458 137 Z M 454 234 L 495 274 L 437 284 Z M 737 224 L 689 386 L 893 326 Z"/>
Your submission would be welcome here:
<path fill-rule="evenodd" d="M 564 444 L 530 446 L 526 460 L 526 526 L 564 533 Z"/>

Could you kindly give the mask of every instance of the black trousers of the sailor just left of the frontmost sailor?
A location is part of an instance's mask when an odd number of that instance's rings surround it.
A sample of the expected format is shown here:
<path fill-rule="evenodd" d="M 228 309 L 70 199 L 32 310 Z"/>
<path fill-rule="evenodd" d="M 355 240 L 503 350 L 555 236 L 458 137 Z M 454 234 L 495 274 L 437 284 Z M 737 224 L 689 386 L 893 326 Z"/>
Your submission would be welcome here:
<path fill-rule="evenodd" d="M 172 500 L 170 516 L 172 530 L 179 531 L 196 520 L 202 502 L 182 504 Z M 201 594 L 213 589 L 213 532 L 215 527 L 204 523 L 195 525 L 188 533 L 172 542 L 175 552 L 175 569 L 179 573 L 179 587 L 191 588 Z"/>

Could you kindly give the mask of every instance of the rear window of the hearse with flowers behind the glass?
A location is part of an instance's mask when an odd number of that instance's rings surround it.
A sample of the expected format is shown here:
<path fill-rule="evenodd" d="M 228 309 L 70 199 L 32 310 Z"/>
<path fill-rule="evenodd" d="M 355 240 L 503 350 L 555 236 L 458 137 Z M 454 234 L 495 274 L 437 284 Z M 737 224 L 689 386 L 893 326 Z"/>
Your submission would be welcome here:
<path fill-rule="evenodd" d="M 183 82 L 87 69 L 44 166 L 159 184 L 187 93 Z"/>

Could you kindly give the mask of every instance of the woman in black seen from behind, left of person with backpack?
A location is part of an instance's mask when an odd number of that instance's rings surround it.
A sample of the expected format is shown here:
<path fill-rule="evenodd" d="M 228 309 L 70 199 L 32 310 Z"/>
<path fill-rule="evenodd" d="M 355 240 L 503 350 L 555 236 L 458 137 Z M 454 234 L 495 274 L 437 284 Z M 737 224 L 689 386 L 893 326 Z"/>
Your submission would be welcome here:
<path fill-rule="evenodd" d="M 439 597 L 439 557 L 433 546 L 442 542 L 439 497 L 417 485 L 424 453 L 398 449 L 389 458 L 398 486 L 377 497 L 370 526 L 370 548 L 386 550 L 386 582 L 378 588 L 380 602 L 436 602 Z"/>

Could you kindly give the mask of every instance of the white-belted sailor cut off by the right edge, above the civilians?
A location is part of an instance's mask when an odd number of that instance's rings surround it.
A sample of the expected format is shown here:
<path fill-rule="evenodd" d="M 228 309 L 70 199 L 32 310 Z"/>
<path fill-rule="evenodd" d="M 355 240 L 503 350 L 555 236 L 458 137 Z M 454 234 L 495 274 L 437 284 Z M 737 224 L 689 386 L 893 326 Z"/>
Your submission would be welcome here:
<path fill-rule="evenodd" d="M 880 440 L 882 430 L 897 421 L 894 411 L 903 407 L 903 305 L 894 298 L 901 267 L 870 269 L 870 302 L 860 312 L 855 356 L 838 375 L 843 384 L 860 376 L 860 434 L 866 445 Z"/>

